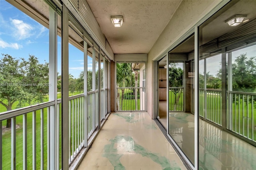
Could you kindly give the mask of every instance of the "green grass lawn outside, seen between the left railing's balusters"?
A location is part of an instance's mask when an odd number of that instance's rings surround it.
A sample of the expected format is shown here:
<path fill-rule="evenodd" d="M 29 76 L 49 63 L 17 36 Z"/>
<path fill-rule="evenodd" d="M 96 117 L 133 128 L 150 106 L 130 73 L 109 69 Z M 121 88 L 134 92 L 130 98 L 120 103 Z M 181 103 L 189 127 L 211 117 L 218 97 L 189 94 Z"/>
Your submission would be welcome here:
<path fill-rule="evenodd" d="M 80 94 L 79 92 L 70 93 L 70 96 Z M 58 98 L 61 94 L 58 94 Z M 48 101 L 45 99 L 44 101 Z M 13 109 L 18 102 L 15 102 Z M 25 106 L 29 106 L 26 104 Z M 61 107 L 60 107 L 61 108 Z M 44 108 L 44 168 L 47 168 L 47 109 Z M 6 111 L 6 108 L 0 104 L 0 112 Z M 61 111 L 60 111 L 61 113 Z M 60 125 L 61 125 L 61 119 Z M 16 169 L 23 169 L 23 115 L 16 117 Z M 2 121 L 2 126 L 6 126 L 6 120 Z M 41 115 L 40 110 L 36 111 L 36 169 L 41 166 Z M 61 127 L 61 126 L 60 126 Z M 72 129 L 71 129 L 72 131 Z M 60 134 L 61 135 L 61 134 Z M 72 135 L 71 135 L 72 136 Z M 61 139 L 61 136 L 60 136 Z M 60 141 L 61 147 L 61 141 Z M 72 154 L 72 153 L 71 153 Z M 6 130 L 2 134 L 2 168 L 3 170 L 11 169 L 11 130 Z M 32 113 L 27 113 L 27 159 L 28 170 L 32 170 Z M 59 162 L 61 164 L 61 162 Z"/>

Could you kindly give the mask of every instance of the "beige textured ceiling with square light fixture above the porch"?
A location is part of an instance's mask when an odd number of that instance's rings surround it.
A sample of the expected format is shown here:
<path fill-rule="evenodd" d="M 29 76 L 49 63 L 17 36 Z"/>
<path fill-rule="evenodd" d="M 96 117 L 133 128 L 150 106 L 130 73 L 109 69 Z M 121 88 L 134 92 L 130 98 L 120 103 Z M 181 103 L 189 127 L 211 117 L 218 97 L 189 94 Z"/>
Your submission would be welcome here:
<path fill-rule="evenodd" d="M 181 0 L 87 0 L 115 54 L 148 53 Z M 110 16 L 122 15 L 115 28 Z"/>

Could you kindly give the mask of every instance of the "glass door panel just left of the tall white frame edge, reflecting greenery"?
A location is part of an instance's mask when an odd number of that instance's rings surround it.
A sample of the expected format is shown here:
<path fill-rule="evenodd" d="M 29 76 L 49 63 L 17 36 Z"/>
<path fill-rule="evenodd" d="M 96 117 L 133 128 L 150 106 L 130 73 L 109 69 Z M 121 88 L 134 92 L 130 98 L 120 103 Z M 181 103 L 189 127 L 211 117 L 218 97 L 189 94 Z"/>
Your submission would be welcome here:
<path fill-rule="evenodd" d="M 168 134 L 194 164 L 194 35 L 168 53 Z M 189 162 L 189 161 L 188 161 Z"/>

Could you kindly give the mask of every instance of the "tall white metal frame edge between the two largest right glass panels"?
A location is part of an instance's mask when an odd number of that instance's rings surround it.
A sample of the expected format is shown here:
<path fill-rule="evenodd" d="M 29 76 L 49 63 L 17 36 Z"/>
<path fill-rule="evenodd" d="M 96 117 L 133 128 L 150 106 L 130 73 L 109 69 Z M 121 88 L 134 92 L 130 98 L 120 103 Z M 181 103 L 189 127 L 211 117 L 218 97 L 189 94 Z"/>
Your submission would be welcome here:
<path fill-rule="evenodd" d="M 195 117 L 194 117 L 194 123 L 195 123 L 195 126 L 194 126 L 194 132 L 195 132 L 195 134 L 194 134 L 194 136 L 195 136 L 195 138 L 194 138 L 194 158 L 195 158 L 195 161 L 194 161 L 194 165 L 195 165 L 195 170 L 197 170 L 197 169 L 199 169 L 199 157 L 198 157 L 198 153 L 199 153 L 199 151 L 198 151 L 198 149 L 199 149 L 199 147 L 198 147 L 198 145 L 199 145 L 199 143 L 198 143 L 198 133 L 199 133 L 199 131 L 198 131 L 198 126 L 199 126 L 199 116 L 198 116 L 198 114 L 199 114 L 199 108 L 198 108 L 198 91 L 199 91 L 199 88 L 198 88 L 198 85 L 199 85 L 199 80 L 198 80 L 198 70 L 199 70 L 199 34 L 198 34 L 198 27 L 196 26 L 195 27 L 195 47 L 194 47 L 194 51 L 195 51 L 195 56 L 194 56 L 194 87 L 195 87 L 195 89 L 194 89 L 194 108 L 195 108 Z"/>

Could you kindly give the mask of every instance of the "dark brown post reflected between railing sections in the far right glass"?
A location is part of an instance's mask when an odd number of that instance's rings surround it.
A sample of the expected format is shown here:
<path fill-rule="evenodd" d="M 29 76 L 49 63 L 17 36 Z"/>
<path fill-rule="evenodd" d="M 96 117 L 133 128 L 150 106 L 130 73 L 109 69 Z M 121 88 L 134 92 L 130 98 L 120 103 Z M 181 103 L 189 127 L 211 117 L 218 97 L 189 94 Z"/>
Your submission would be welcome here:
<path fill-rule="evenodd" d="M 221 56 L 221 86 L 222 86 L 222 91 L 221 91 L 221 98 L 222 98 L 222 110 L 221 110 L 221 125 L 223 127 L 223 129 L 226 129 L 227 127 L 227 121 L 226 121 L 226 113 L 227 113 L 227 94 L 226 94 L 226 91 L 227 91 L 227 88 L 226 88 L 226 84 L 227 84 L 227 61 L 226 61 L 226 49 L 225 48 L 222 48 L 222 56 Z M 229 61 L 228 61 L 229 62 Z M 229 67 L 229 65 L 228 65 Z M 228 73 L 228 77 L 230 77 L 230 73 Z M 230 83 L 228 83 L 230 84 Z M 228 89 L 229 91 L 229 89 Z M 230 100 L 230 99 L 228 99 Z"/>

